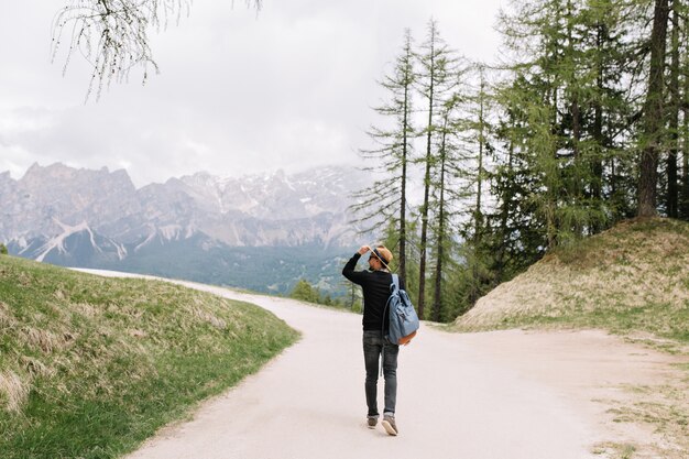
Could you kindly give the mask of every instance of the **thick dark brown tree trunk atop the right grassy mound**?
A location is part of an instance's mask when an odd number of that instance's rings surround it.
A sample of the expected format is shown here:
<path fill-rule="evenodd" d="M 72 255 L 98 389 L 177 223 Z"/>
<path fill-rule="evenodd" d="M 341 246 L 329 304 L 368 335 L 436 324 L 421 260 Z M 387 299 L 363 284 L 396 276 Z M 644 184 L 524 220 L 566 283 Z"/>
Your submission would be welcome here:
<path fill-rule="evenodd" d="M 638 216 L 653 217 L 656 211 L 658 156 L 663 142 L 663 73 L 665 42 L 669 18 L 668 0 L 656 0 L 650 33 L 650 69 L 644 110 L 644 142 L 639 162 Z"/>

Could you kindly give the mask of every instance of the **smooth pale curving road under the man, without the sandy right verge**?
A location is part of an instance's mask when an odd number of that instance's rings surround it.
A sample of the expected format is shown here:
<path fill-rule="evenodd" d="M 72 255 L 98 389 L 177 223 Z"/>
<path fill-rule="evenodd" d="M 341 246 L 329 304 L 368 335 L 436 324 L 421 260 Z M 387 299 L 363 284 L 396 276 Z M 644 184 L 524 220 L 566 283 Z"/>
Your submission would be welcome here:
<path fill-rule="evenodd" d="M 390 437 L 380 425 L 371 430 L 361 316 L 179 283 L 264 307 L 303 338 L 258 374 L 203 404 L 193 419 L 162 429 L 129 459 L 597 457 L 591 452 L 600 439 L 597 426 L 575 400 L 486 358 L 461 335 L 425 325 L 400 354 L 400 435 Z"/>

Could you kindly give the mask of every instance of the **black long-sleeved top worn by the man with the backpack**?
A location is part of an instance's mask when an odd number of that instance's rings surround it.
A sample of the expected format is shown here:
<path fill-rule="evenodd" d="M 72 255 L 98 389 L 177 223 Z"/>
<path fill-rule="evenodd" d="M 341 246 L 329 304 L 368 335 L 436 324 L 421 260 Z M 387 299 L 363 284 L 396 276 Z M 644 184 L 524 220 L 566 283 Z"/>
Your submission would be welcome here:
<path fill-rule="evenodd" d="M 389 319 L 384 310 L 390 298 L 392 274 L 385 271 L 354 271 L 360 258 L 359 252 L 354 253 L 354 256 L 349 259 L 342 269 L 342 275 L 354 284 L 361 285 L 363 291 L 363 329 L 382 330 L 385 324 L 385 330 L 387 330 Z M 402 280 L 400 280 L 400 288 L 404 288 Z"/>

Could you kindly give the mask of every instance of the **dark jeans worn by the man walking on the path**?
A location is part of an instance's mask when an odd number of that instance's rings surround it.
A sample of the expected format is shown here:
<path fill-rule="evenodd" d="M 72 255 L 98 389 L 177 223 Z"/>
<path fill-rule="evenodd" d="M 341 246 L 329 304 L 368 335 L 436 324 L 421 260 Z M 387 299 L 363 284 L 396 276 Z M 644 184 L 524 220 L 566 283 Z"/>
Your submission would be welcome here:
<path fill-rule="evenodd" d="M 400 347 L 391 345 L 381 331 L 363 331 L 363 359 L 367 368 L 367 405 L 369 417 L 378 417 L 378 375 L 381 354 L 385 378 L 385 409 L 383 414 L 395 414 L 397 401 L 397 354 Z"/>

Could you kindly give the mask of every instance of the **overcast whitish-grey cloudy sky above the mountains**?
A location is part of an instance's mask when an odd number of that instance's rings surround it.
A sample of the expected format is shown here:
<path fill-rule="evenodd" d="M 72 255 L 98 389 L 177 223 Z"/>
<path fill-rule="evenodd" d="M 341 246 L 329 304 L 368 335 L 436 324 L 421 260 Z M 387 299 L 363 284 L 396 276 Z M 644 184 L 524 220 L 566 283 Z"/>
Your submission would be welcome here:
<path fill-rule="evenodd" d="M 125 168 L 134 184 L 197 171 L 239 176 L 357 164 L 368 145 L 404 29 L 441 36 L 492 62 L 501 0 L 195 0 L 160 33 L 161 73 L 103 89 L 85 103 L 90 69 L 64 54 L 51 64 L 53 18 L 66 0 L 0 0 L 0 172 L 33 163 Z M 502 0 L 502 3 L 506 3 Z"/>

